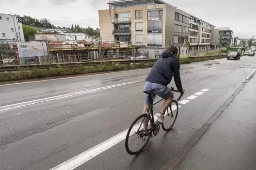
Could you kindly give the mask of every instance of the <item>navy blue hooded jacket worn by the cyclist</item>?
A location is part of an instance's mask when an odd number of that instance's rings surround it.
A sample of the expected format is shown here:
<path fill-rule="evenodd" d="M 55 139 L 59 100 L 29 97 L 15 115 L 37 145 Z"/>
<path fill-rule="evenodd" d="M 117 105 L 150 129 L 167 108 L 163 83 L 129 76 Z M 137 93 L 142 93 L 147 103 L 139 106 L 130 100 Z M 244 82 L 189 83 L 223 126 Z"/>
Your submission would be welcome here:
<path fill-rule="evenodd" d="M 171 51 L 165 50 L 162 53 L 162 57 L 151 68 L 146 81 L 167 86 L 171 83 L 172 76 L 174 77 L 177 90 L 182 92 L 178 58 L 173 56 Z"/>

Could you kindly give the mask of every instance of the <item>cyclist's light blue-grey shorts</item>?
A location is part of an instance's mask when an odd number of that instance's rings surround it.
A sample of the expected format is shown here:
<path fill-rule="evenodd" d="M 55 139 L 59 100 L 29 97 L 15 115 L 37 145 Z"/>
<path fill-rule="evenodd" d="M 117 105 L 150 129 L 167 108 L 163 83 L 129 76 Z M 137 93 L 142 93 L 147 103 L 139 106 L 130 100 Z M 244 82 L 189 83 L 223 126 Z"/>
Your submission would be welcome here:
<path fill-rule="evenodd" d="M 170 99 L 173 98 L 173 93 L 171 92 L 170 88 L 161 84 L 156 84 L 156 83 L 151 83 L 151 82 L 146 82 L 144 86 L 145 90 L 153 90 L 155 91 L 151 94 L 153 101 L 156 98 L 156 95 L 158 95 L 160 98 L 163 99 Z M 145 99 L 144 99 L 145 104 L 149 104 L 148 102 L 148 94 L 145 94 Z"/>

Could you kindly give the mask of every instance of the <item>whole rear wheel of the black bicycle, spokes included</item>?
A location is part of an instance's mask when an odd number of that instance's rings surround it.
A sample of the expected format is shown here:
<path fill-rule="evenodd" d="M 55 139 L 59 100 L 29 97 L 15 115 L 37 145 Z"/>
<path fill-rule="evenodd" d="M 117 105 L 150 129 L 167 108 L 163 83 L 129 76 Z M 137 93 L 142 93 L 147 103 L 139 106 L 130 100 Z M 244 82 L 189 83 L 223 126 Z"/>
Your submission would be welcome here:
<path fill-rule="evenodd" d="M 151 117 L 149 116 L 149 121 L 147 121 L 147 114 L 142 114 L 140 115 L 137 119 L 135 119 L 135 121 L 132 123 L 131 127 L 129 128 L 127 134 L 126 134 L 126 138 L 125 138 L 125 149 L 127 151 L 127 153 L 129 153 L 130 155 L 136 155 L 138 153 L 140 153 L 148 144 L 149 139 L 152 135 L 152 129 L 153 129 L 153 122 Z M 148 127 L 147 127 L 147 131 L 144 130 L 144 126 L 143 126 L 143 121 L 147 121 L 148 122 Z M 135 126 L 135 128 L 134 128 Z M 129 140 L 129 137 L 132 138 L 132 140 Z M 133 137 L 136 137 L 135 139 L 133 139 Z M 142 142 L 142 145 L 137 145 L 137 146 L 131 146 L 132 144 L 134 144 L 136 141 L 138 142 Z M 139 148 L 138 148 L 139 147 Z"/>

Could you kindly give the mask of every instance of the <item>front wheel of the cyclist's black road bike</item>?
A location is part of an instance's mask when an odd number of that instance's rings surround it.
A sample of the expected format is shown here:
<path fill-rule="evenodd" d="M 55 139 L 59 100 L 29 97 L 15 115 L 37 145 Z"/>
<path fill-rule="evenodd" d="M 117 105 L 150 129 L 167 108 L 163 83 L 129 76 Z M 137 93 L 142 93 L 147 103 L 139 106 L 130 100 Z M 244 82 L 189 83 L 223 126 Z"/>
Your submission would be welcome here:
<path fill-rule="evenodd" d="M 166 109 L 164 116 L 164 123 L 162 128 L 164 131 L 169 131 L 174 123 L 176 122 L 178 116 L 178 102 L 173 100 L 171 105 Z"/>

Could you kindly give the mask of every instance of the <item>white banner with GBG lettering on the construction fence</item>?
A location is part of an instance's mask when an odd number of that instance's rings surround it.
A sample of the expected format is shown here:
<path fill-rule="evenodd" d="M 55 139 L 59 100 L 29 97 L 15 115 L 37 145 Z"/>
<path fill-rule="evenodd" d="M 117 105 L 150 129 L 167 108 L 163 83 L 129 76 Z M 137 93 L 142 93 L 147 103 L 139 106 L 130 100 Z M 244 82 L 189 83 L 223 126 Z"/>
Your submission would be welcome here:
<path fill-rule="evenodd" d="M 19 57 L 47 56 L 46 42 L 20 42 L 17 43 Z"/>

